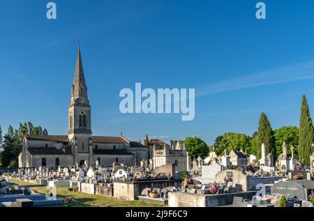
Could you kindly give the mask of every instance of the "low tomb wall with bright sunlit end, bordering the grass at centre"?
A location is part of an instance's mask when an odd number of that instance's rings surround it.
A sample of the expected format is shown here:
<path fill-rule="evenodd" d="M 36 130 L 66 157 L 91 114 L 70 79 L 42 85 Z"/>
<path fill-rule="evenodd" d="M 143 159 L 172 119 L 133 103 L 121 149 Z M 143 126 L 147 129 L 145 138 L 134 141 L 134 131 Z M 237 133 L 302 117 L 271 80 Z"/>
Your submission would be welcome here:
<path fill-rule="evenodd" d="M 175 180 L 147 180 L 147 181 L 114 181 L 114 197 L 119 199 L 135 200 L 145 188 L 178 187 L 179 181 Z"/>

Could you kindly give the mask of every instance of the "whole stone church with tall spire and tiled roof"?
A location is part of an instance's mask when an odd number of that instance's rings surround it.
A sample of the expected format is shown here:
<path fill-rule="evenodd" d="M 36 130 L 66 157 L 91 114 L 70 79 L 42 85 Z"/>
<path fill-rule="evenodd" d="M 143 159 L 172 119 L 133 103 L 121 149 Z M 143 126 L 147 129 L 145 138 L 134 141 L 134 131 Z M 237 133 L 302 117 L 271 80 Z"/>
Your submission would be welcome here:
<path fill-rule="evenodd" d="M 146 146 L 131 142 L 122 133 L 119 137 L 92 135 L 91 105 L 79 46 L 68 107 L 68 135 L 25 135 L 19 167 L 55 169 L 96 165 L 96 161 L 103 167 L 113 162 L 134 165 L 147 156 Z"/>

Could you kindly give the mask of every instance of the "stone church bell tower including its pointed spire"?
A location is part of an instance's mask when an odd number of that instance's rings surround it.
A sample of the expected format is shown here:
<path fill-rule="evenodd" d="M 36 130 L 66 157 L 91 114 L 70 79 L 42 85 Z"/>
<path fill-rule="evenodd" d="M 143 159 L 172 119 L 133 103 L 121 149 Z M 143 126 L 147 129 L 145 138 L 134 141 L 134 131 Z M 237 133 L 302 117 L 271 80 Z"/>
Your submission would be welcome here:
<path fill-rule="evenodd" d="M 68 108 L 68 139 L 72 143 L 73 163 L 93 158 L 91 140 L 91 105 L 87 96 L 80 45 Z"/>

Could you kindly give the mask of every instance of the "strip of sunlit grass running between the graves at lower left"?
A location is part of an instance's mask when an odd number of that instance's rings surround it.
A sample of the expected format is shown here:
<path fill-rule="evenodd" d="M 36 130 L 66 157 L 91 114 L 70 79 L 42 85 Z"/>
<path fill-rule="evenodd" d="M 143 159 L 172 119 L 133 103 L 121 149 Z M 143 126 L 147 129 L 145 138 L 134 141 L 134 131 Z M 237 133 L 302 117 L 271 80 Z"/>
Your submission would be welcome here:
<path fill-rule="evenodd" d="M 11 183 L 17 183 L 21 186 L 29 186 L 31 190 L 37 190 L 40 194 L 47 194 L 47 187 L 45 185 L 38 185 L 33 183 L 25 183 L 23 181 L 9 180 Z M 83 192 L 72 192 L 68 188 L 57 188 L 57 197 L 72 196 L 77 201 L 73 204 L 75 207 L 160 207 L 161 204 L 154 204 L 145 201 L 126 201 L 114 197 L 107 197 L 102 195 L 89 195 Z"/>

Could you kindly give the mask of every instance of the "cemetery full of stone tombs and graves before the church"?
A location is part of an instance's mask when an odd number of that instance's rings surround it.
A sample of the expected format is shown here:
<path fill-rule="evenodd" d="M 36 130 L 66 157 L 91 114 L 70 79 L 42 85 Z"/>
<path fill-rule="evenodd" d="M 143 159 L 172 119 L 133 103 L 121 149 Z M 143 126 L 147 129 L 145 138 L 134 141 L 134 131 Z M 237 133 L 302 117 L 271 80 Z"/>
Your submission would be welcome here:
<path fill-rule="evenodd" d="M 306 169 L 293 156 L 287 158 L 285 143 L 277 162 L 265 154 L 264 144 L 261 151 L 262 158 L 255 165 L 244 160 L 243 152 L 233 151 L 231 155 L 213 154 L 206 163 L 194 159 L 187 166 L 190 170 L 179 174 L 172 163 L 152 169 L 147 160 L 140 166 L 114 162 L 112 167 L 100 167 L 97 162 L 94 166 L 85 162 L 81 167 L 59 166 L 55 170 L 19 168 L 1 176 L 0 203 L 61 206 L 63 199 L 54 195 L 54 190 L 62 189 L 170 207 L 274 207 L 282 196 L 287 197 L 289 206 L 313 206 L 313 167 Z M 39 194 L 9 180 L 46 186 L 48 192 Z"/>

